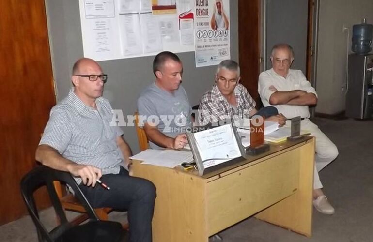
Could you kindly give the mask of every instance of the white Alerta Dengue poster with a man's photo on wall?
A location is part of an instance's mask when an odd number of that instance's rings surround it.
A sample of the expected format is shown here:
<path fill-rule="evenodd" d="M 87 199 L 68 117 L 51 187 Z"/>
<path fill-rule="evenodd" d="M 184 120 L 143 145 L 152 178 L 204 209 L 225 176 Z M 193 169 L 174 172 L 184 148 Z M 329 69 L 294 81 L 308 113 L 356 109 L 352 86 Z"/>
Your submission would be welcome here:
<path fill-rule="evenodd" d="M 229 0 L 195 1 L 196 67 L 230 59 Z"/>

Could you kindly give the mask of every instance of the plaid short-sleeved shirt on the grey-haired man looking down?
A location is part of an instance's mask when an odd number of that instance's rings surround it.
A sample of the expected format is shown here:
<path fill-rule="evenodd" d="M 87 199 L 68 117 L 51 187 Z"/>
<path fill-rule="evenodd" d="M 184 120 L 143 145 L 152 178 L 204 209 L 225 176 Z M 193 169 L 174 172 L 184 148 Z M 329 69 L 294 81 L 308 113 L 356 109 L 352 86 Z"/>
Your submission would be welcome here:
<path fill-rule="evenodd" d="M 207 91 L 201 99 L 198 121 L 200 125 L 215 123 L 221 120 L 237 120 L 249 116 L 255 108 L 255 101 L 248 90 L 240 83 L 234 88 L 237 106 L 233 107 L 221 94 L 217 85 Z"/>

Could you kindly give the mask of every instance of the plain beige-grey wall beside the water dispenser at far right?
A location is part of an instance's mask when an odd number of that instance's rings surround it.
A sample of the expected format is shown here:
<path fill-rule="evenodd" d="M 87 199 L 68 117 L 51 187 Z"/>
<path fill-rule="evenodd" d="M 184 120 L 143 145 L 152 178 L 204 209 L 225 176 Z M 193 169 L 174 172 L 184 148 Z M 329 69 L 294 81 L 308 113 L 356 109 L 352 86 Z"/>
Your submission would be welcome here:
<path fill-rule="evenodd" d="M 317 53 L 316 112 L 336 114 L 345 109 L 347 31 L 351 52 L 352 26 L 366 18 L 373 23 L 372 0 L 320 0 Z"/>

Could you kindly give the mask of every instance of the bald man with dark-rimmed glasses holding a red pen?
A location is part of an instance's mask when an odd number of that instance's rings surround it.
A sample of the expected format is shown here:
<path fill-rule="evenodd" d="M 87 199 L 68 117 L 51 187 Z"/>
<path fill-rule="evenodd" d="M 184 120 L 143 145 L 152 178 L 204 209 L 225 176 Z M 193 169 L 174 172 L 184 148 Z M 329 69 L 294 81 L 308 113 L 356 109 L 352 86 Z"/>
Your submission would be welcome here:
<path fill-rule="evenodd" d="M 93 208 L 128 211 L 129 241 L 152 241 L 155 186 L 131 177 L 131 149 L 123 131 L 110 126 L 112 108 L 101 97 L 108 76 L 92 59 L 73 66 L 73 88 L 52 108 L 35 159 L 53 169 L 70 172 Z M 100 179 L 110 187 L 97 184 Z"/>

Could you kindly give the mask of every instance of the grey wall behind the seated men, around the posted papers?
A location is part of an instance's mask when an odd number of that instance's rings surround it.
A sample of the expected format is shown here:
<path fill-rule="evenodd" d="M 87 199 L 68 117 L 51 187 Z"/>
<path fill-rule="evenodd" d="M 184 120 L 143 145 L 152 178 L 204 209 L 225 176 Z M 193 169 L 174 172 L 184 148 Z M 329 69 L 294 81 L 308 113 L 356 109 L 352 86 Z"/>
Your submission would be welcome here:
<path fill-rule="evenodd" d="M 52 52 L 53 74 L 57 99 L 62 100 L 70 89 L 71 69 L 83 56 L 78 0 L 46 0 L 49 39 Z M 231 58 L 238 60 L 238 3 L 230 2 Z M 183 86 L 192 106 L 199 103 L 202 94 L 214 83 L 216 66 L 196 68 L 194 52 L 179 53 L 183 61 Z M 136 100 L 142 89 L 154 81 L 154 56 L 143 58 L 100 61 L 108 74 L 103 96 L 113 109 L 122 109 L 124 117 L 136 111 Z M 139 151 L 134 127 L 123 127 L 124 137 L 134 153 Z"/>

